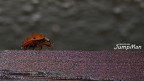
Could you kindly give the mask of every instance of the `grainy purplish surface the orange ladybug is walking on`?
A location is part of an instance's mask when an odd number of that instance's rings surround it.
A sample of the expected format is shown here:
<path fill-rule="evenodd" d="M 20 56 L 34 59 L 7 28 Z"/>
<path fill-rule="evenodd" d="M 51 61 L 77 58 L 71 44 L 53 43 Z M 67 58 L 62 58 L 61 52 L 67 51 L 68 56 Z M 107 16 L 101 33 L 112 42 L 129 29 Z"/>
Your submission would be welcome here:
<path fill-rule="evenodd" d="M 0 51 L 0 70 L 44 72 L 68 78 L 88 76 L 92 79 L 143 81 L 143 58 L 143 51 L 4 50 Z"/>

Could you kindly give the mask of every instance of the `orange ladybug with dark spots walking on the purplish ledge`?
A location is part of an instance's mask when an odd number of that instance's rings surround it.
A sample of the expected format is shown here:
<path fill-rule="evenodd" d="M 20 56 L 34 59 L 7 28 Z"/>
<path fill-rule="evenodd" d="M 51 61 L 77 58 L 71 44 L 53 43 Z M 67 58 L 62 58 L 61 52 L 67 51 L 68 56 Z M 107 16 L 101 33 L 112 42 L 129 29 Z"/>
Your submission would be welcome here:
<path fill-rule="evenodd" d="M 22 42 L 21 49 L 34 50 L 36 47 L 40 47 L 40 49 L 42 49 L 43 45 L 47 46 L 48 48 L 53 47 L 52 42 L 42 34 L 32 34 Z"/>

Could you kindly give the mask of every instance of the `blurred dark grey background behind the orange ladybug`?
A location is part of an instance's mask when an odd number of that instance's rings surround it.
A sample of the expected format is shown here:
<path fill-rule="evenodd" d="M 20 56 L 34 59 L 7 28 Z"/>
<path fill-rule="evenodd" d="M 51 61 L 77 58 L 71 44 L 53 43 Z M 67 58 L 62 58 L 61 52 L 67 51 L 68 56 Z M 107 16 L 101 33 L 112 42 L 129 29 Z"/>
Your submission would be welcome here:
<path fill-rule="evenodd" d="M 113 50 L 144 45 L 143 0 L 0 0 L 0 49 L 20 49 L 42 33 L 55 50 Z"/>

